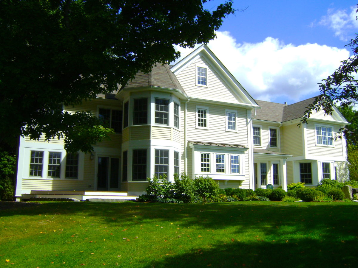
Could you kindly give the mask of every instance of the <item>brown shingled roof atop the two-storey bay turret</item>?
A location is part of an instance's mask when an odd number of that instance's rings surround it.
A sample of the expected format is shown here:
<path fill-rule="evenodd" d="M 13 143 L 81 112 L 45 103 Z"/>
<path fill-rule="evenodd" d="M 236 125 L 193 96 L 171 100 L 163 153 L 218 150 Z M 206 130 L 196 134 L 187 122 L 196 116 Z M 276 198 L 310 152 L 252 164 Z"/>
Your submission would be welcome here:
<path fill-rule="evenodd" d="M 150 73 L 138 72 L 133 80 L 128 81 L 122 89 L 141 88 L 145 86 L 156 86 L 160 88 L 179 89 L 185 94 L 176 76 L 169 69 L 168 64 L 156 64 Z"/>

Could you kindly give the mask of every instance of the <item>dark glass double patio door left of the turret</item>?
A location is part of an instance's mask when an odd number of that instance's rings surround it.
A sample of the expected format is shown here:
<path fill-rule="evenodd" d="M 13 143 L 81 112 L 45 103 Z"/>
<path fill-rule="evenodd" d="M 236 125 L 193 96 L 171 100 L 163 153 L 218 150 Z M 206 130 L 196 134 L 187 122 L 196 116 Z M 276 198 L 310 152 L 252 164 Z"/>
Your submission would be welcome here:
<path fill-rule="evenodd" d="M 120 161 L 116 157 L 98 157 L 97 191 L 119 191 Z"/>

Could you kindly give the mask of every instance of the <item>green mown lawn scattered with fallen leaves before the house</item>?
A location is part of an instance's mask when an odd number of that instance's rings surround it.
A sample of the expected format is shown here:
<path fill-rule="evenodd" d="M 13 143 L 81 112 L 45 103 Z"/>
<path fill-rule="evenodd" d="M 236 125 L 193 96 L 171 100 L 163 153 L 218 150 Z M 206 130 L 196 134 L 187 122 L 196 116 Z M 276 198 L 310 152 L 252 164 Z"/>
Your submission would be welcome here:
<path fill-rule="evenodd" d="M 357 219 L 355 202 L 49 202 L 0 211 L 0 267 L 355 267 Z"/>

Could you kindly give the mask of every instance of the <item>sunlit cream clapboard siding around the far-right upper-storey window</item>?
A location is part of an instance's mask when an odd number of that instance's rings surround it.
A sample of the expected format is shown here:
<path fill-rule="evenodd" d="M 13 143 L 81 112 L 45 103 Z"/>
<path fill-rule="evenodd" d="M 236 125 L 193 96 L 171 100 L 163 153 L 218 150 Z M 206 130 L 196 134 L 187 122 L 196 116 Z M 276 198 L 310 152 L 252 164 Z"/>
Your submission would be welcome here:
<path fill-rule="evenodd" d="M 333 126 L 333 133 L 339 131 L 340 126 Z M 343 139 L 333 141 L 333 147 L 316 145 L 315 124 L 309 122 L 306 127 L 306 145 L 309 156 L 328 156 L 332 155 L 337 158 L 343 157 Z"/>

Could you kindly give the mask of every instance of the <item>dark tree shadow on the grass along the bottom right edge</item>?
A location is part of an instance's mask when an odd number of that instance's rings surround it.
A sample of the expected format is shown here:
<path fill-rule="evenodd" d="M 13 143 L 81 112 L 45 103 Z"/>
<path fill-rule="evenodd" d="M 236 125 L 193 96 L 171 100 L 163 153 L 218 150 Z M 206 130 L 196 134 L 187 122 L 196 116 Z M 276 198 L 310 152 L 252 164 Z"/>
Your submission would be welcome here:
<path fill-rule="evenodd" d="M 146 268 L 164 267 L 355 267 L 357 242 L 318 242 L 310 239 L 287 243 L 258 241 L 214 244 L 181 255 L 166 256 Z"/>

